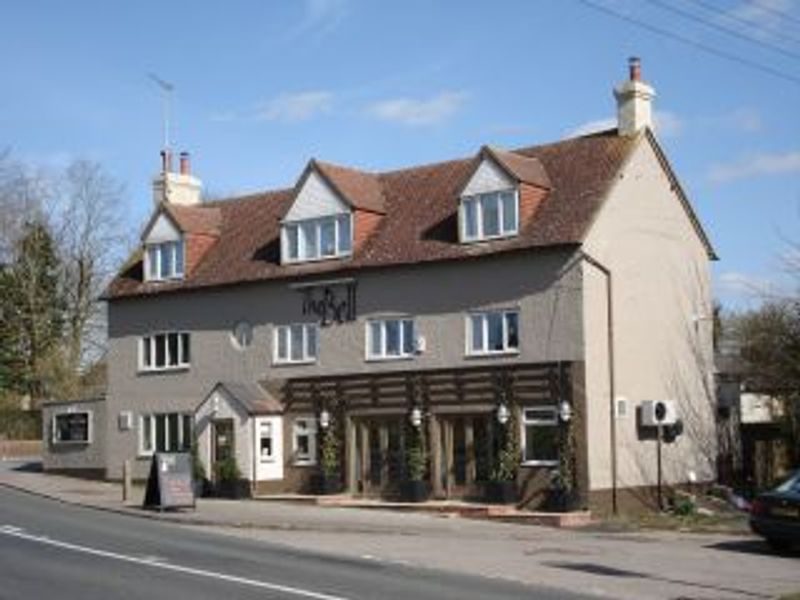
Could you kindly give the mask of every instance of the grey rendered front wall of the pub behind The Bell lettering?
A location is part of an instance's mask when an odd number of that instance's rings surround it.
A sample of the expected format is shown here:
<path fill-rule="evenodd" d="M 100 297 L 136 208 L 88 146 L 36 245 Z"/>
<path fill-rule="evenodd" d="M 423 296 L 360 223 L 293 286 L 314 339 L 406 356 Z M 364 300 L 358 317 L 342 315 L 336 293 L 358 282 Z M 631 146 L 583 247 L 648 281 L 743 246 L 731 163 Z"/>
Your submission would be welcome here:
<path fill-rule="evenodd" d="M 122 461 L 136 454 L 139 414 L 194 411 L 218 381 L 580 360 L 582 281 L 570 258 L 566 250 L 530 251 L 357 272 L 357 320 L 323 328 L 319 359 L 305 366 L 273 365 L 273 325 L 310 320 L 302 315 L 302 294 L 291 289 L 288 281 L 112 302 L 108 476 L 118 478 Z M 484 307 L 519 307 L 518 355 L 465 357 L 465 312 Z M 413 316 L 427 349 L 409 360 L 367 362 L 366 320 L 390 315 Z M 253 343 L 245 351 L 231 344 L 231 329 L 240 320 L 254 326 Z M 188 370 L 137 372 L 137 340 L 158 330 L 192 333 Z M 117 430 L 116 416 L 121 410 L 134 411 L 134 430 Z"/>

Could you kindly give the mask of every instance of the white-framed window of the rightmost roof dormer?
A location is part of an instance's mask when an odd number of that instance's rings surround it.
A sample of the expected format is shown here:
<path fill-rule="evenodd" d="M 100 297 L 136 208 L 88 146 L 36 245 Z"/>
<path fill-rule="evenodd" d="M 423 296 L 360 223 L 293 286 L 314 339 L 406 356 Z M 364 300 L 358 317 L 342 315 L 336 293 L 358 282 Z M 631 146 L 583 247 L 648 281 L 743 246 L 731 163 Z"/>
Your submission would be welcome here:
<path fill-rule="evenodd" d="M 476 242 L 516 235 L 518 197 L 514 190 L 490 192 L 461 200 L 461 241 Z"/>

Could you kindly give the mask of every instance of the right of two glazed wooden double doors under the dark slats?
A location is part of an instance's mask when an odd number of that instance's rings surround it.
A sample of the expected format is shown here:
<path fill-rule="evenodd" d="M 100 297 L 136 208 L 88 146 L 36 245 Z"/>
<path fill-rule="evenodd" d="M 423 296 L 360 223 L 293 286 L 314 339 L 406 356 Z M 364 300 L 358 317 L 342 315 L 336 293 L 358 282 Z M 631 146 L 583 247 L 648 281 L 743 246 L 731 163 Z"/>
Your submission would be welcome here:
<path fill-rule="evenodd" d="M 443 417 L 439 428 L 441 485 L 448 498 L 480 496 L 492 465 L 490 415 Z"/>

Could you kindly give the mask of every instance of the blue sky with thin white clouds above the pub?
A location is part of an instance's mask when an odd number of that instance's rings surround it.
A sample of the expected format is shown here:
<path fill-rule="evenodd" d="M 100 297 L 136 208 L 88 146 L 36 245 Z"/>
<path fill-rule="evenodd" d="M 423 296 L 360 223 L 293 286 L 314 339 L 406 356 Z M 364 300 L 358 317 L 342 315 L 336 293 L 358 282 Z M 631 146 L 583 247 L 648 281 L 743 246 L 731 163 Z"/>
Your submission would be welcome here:
<path fill-rule="evenodd" d="M 52 167 L 102 162 L 139 223 L 162 140 L 150 72 L 175 86 L 176 150 L 219 196 L 292 185 L 310 157 L 387 169 L 562 138 L 614 115 L 611 89 L 638 55 L 659 137 L 721 257 L 717 296 L 748 306 L 754 290 L 791 285 L 783 260 L 800 242 L 800 2 L 664 4 L 4 3 L 0 148 Z"/>

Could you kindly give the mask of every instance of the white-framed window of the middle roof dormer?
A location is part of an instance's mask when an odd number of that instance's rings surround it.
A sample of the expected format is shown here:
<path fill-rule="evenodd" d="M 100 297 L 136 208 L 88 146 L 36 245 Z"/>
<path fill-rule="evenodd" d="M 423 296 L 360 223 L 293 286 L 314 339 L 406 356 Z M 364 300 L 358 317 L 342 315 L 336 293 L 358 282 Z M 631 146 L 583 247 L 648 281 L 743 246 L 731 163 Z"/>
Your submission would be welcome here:
<path fill-rule="evenodd" d="M 353 250 L 350 213 L 284 223 L 281 227 L 284 263 L 349 256 Z"/>

